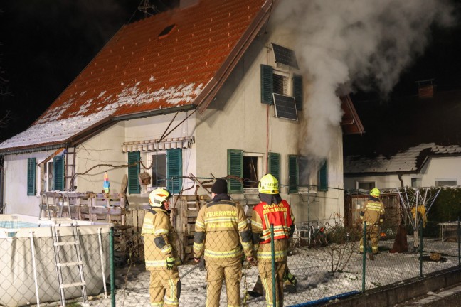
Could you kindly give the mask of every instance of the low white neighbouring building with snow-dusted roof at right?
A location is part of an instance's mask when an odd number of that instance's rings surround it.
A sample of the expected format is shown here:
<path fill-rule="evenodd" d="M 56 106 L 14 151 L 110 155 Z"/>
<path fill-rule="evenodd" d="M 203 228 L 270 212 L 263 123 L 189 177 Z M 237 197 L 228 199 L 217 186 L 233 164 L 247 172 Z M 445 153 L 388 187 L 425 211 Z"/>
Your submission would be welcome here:
<path fill-rule="evenodd" d="M 347 156 L 344 188 L 439 187 L 461 185 L 461 147 L 420 144 L 386 158 Z"/>

